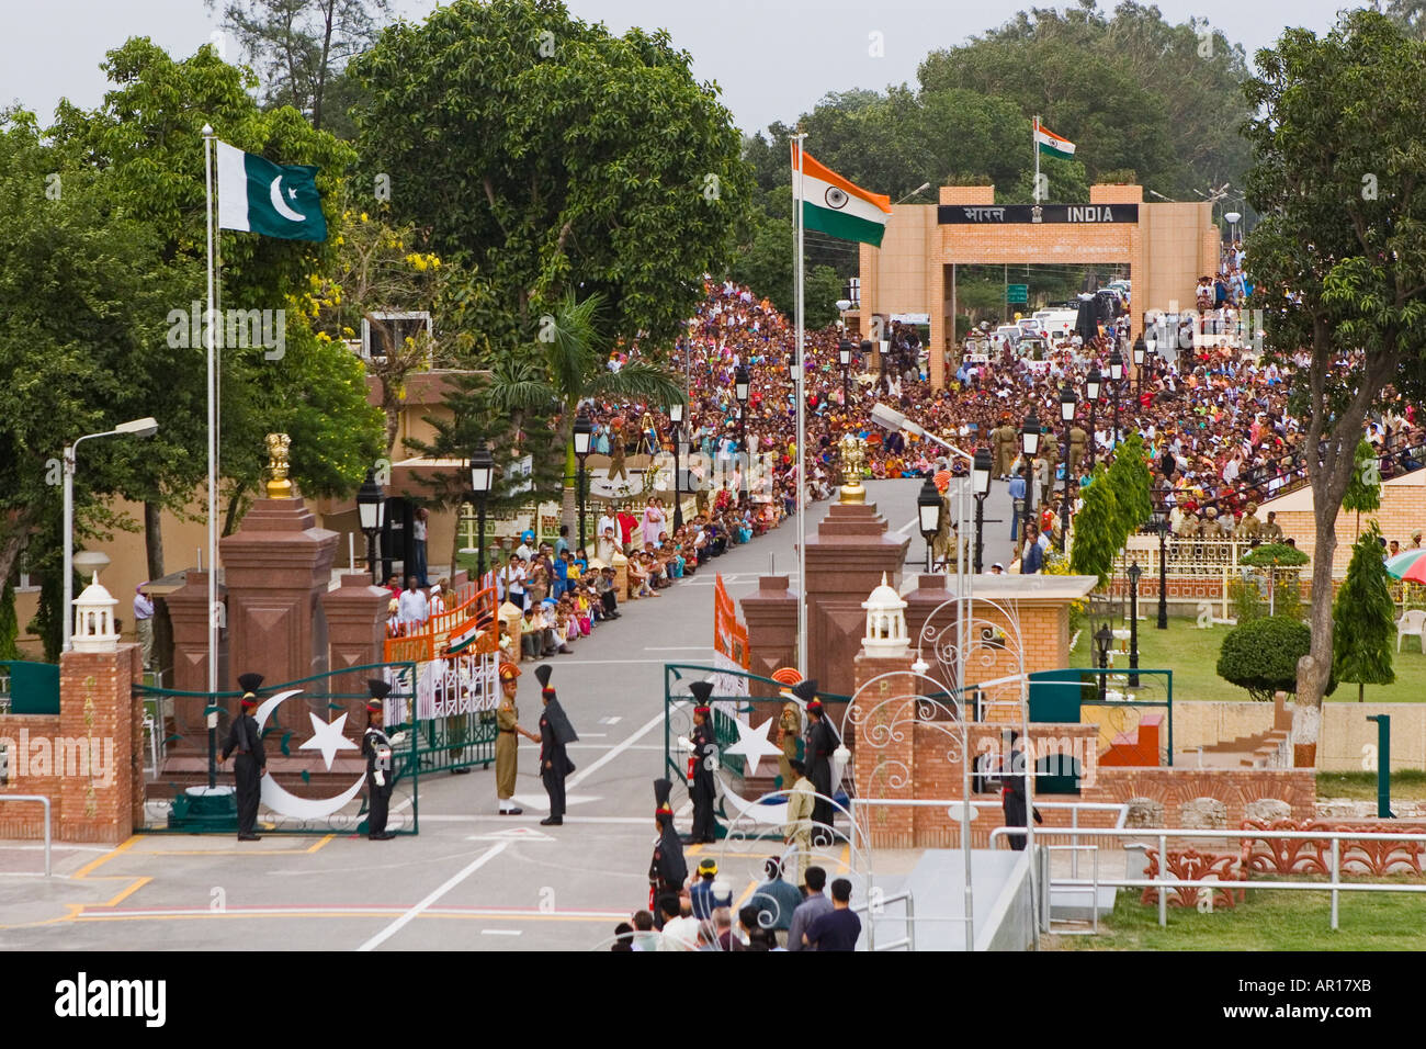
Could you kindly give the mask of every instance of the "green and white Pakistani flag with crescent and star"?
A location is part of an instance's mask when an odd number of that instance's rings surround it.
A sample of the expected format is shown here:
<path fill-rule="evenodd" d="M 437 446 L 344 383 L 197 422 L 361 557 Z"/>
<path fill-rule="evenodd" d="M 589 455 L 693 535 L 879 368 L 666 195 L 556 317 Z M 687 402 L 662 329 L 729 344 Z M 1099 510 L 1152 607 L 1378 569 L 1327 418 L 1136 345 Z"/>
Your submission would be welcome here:
<path fill-rule="evenodd" d="M 218 146 L 218 227 L 285 240 L 327 240 L 318 168 L 274 164 L 235 146 Z"/>

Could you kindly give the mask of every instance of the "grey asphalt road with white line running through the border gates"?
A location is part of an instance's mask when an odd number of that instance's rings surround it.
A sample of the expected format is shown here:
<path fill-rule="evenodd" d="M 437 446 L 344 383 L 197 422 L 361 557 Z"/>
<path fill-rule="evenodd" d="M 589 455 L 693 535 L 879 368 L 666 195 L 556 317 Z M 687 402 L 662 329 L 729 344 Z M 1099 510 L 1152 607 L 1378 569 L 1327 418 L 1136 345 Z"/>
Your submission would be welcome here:
<path fill-rule="evenodd" d="M 894 532 L 915 531 L 918 481 L 873 481 Z M 810 510 L 810 528 L 827 504 Z M 1004 485 L 988 518 L 1008 521 Z M 997 538 L 1000 537 L 1000 538 Z M 987 527 L 985 562 L 1008 561 L 1008 524 Z M 653 788 L 663 752 L 663 665 L 712 659 L 714 571 L 736 598 L 770 569 L 793 577 L 796 527 L 730 551 L 696 578 L 553 659 L 553 686 L 579 742 L 565 825 L 539 826 L 538 748 L 520 746 L 520 816 L 496 814 L 495 772 L 421 781 L 421 833 L 389 842 L 328 835 L 135 835 L 118 848 L 57 845 L 37 876 L 33 842 L 0 842 L 0 949 L 590 949 L 647 901 Z M 911 541 L 911 562 L 924 547 Z M 539 684 L 525 665 L 522 722 Z M 686 809 L 682 788 L 674 805 Z M 686 814 L 680 829 L 687 829 Z M 710 846 L 712 848 L 712 846 Z M 696 862 L 696 853 L 690 866 Z M 732 872 L 729 872 L 732 875 Z M 747 872 L 733 875 L 736 893 Z"/>

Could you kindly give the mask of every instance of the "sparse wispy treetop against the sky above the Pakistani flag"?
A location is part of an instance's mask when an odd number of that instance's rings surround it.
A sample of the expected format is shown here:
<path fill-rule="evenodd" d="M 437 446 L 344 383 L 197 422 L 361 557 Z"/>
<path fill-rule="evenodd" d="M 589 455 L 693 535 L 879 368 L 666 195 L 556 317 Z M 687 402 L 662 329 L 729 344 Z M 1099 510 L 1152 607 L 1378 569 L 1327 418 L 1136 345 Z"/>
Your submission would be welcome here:
<path fill-rule="evenodd" d="M 208 10 L 218 0 L 207 0 Z M 270 106 L 291 106 L 339 138 L 351 138 L 348 59 L 371 47 L 391 0 L 227 0 L 222 27 L 262 77 Z M 331 106 L 332 101 L 337 106 Z"/>

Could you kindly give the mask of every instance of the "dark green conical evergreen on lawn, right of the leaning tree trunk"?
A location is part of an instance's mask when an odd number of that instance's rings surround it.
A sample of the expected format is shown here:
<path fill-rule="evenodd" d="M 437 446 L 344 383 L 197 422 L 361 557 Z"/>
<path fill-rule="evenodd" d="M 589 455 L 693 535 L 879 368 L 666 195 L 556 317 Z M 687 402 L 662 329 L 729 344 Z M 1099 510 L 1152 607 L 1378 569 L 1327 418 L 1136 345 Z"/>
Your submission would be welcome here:
<path fill-rule="evenodd" d="M 1356 682 L 1358 702 L 1362 702 L 1366 685 L 1396 681 L 1396 671 L 1392 669 L 1396 607 L 1392 604 L 1376 521 L 1352 547 L 1352 562 L 1332 607 L 1332 672 L 1338 681 Z"/>

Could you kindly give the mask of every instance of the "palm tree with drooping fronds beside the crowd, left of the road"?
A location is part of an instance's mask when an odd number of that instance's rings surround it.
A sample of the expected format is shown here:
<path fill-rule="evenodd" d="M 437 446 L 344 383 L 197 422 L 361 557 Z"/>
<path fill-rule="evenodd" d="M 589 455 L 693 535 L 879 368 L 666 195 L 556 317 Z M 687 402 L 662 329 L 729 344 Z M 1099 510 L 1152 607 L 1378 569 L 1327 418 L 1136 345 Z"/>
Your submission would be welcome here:
<path fill-rule="evenodd" d="M 565 485 L 562 520 L 575 524 L 575 417 L 588 398 L 645 400 L 670 404 L 683 400 L 683 385 L 667 371 L 643 361 L 626 364 L 619 371 L 605 367 L 607 343 L 599 331 L 603 295 L 576 300 L 572 291 L 560 295 L 552 314 L 542 318 L 536 343 L 538 364 L 506 358 L 491 374 L 491 402 L 512 418 L 530 410 L 558 411 L 558 434 L 565 447 Z"/>

